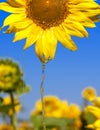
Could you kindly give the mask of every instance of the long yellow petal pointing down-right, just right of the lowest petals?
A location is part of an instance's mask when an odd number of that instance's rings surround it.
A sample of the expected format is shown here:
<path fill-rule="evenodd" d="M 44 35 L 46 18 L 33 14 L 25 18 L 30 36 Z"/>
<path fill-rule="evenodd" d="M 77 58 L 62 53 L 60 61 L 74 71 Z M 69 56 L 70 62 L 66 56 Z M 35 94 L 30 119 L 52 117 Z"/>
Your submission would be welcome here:
<path fill-rule="evenodd" d="M 61 28 L 56 27 L 54 30 L 56 38 L 62 43 L 62 45 L 70 50 L 77 50 L 75 43 L 71 40 L 70 36 L 61 30 Z"/>

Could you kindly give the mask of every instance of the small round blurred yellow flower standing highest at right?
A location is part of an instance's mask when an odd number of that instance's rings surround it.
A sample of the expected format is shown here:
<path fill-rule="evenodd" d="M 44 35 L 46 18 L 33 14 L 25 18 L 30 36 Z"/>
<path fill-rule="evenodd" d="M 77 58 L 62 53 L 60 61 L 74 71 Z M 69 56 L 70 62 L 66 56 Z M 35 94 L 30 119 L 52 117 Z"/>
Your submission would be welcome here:
<path fill-rule="evenodd" d="M 82 96 L 86 100 L 93 101 L 96 98 L 96 90 L 93 87 L 87 87 L 82 91 Z"/>

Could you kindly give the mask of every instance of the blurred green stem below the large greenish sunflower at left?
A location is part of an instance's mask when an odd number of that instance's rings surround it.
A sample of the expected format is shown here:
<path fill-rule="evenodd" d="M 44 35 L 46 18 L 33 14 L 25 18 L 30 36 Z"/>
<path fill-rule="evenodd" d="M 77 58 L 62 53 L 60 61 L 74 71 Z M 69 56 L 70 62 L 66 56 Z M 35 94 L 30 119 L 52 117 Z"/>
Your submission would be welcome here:
<path fill-rule="evenodd" d="M 10 92 L 10 98 L 11 98 L 11 103 L 13 105 L 12 107 L 13 113 L 11 115 L 11 124 L 13 126 L 13 129 L 17 130 L 17 117 L 16 117 L 16 112 L 15 112 L 15 106 L 14 106 L 14 96 L 12 92 Z"/>

